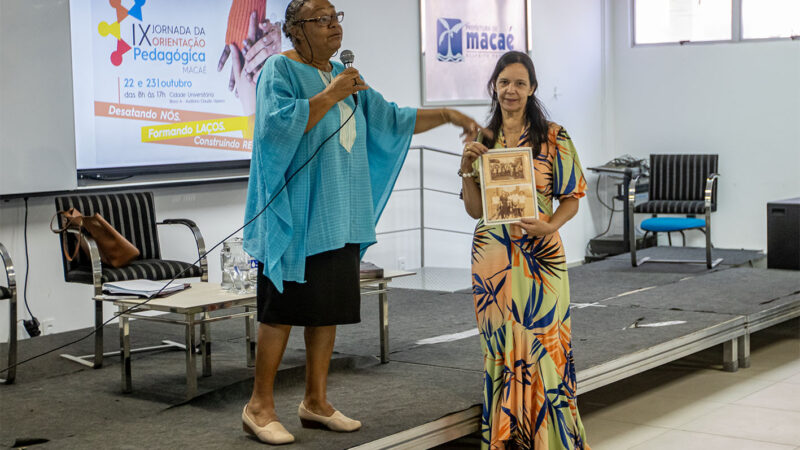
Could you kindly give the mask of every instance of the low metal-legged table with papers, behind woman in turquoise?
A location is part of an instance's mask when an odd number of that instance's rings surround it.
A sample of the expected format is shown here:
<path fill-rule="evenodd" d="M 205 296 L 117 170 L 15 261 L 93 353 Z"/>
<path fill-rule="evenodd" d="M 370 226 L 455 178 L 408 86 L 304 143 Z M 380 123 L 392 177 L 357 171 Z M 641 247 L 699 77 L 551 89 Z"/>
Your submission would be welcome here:
<path fill-rule="evenodd" d="M 386 271 L 381 278 L 365 278 L 360 282 L 362 295 L 378 295 L 380 326 L 380 360 L 381 363 L 389 362 L 389 299 L 388 284 L 393 278 L 414 275 L 414 272 Z M 253 329 L 256 315 L 255 294 L 234 294 L 224 291 L 219 284 L 192 283 L 192 287 L 176 292 L 166 297 L 154 298 L 150 301 L 140 297 L 126 295 L 101 295 L 95 301 L 111 302 L 119 311 L 119 340 L 120 356 L 122 357 L 122 391 L 131 392 L 131 346 L 130 324 L 131 318 L 151 320 L 156 322 L 183 325 L 185 328 L 185 343 L 180 345 L 171 343 L 172 346 L 181 347 L 186 353 L 186 398 L 197 395 L 197 367 L 194 348 L 197 341 L 195 325 L 200 325 L 200 353 L 203 360 L 203 376 L 211 376 L 211 329 L 209 324 L 237 317 L 245 318 L 245 353 L 247 366 L 252 367 L 255 362 L 255 339 Z M 130 309 L 136 307 L 134 311 Z M 241 313 L 231 313 L 211 317 L 210 313 L 217 310 L 226 310 L 244 307 Z M 160 316 L 141 314 L 144 311 L 159 311 L 183 315 L 182 319 L 171 319 Z M 201 315 L 201 317 L 197 317 Z"/>

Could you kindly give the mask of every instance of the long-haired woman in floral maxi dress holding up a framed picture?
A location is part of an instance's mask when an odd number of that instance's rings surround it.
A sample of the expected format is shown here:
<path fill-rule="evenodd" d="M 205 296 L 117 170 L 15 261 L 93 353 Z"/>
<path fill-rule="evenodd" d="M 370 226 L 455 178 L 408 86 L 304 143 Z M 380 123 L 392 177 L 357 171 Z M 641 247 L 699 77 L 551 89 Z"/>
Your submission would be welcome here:
<path fill-rule="evenodd" d="M 586 180 L 566 130 L 546 120 L 536 87 L 526 54 L 500 58 L 488 83 L 488 131 L 466 145 L 459 170 L 464 206 L 480 218 L 479 156 L 489 148 L 533 148 L 539 219 L 507 225 L 481 219 L 473 237 L 472 290 L 485 378 L 482 447 L 588 449 L 577 408 L 569 280 L 558 234 L 578 212 Z"/>

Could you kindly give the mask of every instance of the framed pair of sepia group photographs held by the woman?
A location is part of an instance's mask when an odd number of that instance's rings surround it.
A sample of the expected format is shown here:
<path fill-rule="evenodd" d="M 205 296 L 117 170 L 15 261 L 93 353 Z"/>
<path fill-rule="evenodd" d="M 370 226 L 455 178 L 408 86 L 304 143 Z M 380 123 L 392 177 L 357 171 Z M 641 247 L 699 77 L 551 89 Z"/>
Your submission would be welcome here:
<path fill-rule="evenodd" d="M 530 147 L 489 150 L 481 155 L 480 175 L 486 225 L 539 218 Z"/>

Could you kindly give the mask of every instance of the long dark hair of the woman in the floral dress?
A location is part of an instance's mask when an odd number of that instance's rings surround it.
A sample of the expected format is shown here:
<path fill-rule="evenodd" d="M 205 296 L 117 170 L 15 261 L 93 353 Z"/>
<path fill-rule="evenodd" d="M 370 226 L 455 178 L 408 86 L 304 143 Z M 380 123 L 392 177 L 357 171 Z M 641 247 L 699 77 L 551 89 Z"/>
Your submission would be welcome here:
<path fill-rule="evenodd" d="M 528 80 L 533 87 L 533 93 L 528 97 L 525 104 L 525 119 L 529 125 L 529 137 L 531 145 L 533 146 L 533 156 L 536 157 L 541 151 L 542 143 L 547 142 L 547 113 L 544 107 L 536 98 L 536 89 L 539 83 L 536 81 L 536 69 L 533 68 L 533 61 L 531 58 L 522 52 L 508 52 L 500 57 L 497 65 L 494 67 L 489 83 L 486 84 L 486 89 L 489 91 L 489 96 L 492 98 L 492 108 L 489 112 L 489 125 L 486 127 L 493 133 L 490 139 L 487 136 L 483 137 L 483 145 L 492 148 L 497 142 L 497 137 L 500 132 L 500 127 L 503 125 L 503 114 L 500 111 L 500 105 L 497 100 L 497 91 L 495 84 L 500 72 L 511 64 L 520 63 L 528 70 Z M 509 145 L 516 146 L 516 142 L 509 142 Z"/>

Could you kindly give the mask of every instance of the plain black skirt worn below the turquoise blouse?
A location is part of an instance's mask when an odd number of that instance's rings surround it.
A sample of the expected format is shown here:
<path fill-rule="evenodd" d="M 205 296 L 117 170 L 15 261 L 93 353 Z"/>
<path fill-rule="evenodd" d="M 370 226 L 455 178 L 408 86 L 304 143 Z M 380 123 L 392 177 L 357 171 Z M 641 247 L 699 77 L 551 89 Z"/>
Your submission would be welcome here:
<path fill-rule="evenodd" d="M 306 282 L 283 282 L 283 293 L 263 274 L 258 264 L 258 321 L 282 325 L 320 327 L 361 322 L 359 246 L 306 258 Z"/>

